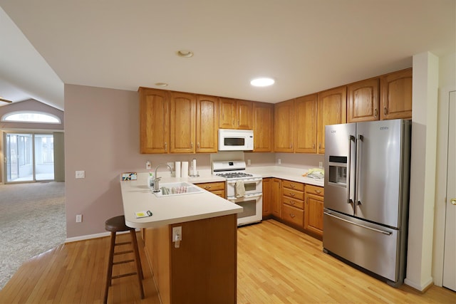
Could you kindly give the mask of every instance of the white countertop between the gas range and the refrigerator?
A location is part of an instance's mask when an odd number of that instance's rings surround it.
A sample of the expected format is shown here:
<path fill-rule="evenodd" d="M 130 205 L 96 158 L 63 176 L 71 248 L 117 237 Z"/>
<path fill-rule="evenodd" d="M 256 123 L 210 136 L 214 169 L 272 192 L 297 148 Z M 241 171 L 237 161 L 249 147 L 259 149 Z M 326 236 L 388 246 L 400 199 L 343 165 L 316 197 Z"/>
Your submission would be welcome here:
<path fill-rule="evenodd" d="M 280 166 L 265 166 L 265 167 L 247 167 L 247 172 L 252 174 L 260 174 L 261 177 L 276 177 L 278 179 L 288 179 L 293 182 L 301 182 L 304 184 L 312 184 L 314 186 L 324 186 L 324 179 L 312 179 L 303 177 L 306 169 L 296 169 Z"/>

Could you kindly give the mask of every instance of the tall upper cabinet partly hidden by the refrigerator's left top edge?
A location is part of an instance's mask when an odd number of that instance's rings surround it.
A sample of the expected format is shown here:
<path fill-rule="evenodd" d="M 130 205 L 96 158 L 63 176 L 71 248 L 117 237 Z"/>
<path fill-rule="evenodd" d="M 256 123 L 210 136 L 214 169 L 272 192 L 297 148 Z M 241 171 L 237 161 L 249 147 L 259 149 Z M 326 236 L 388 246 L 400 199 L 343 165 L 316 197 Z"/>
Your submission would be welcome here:
<path fill-rule="evenodd" d="M 318 93 L 317 112 L 317 153 L 324 154 L 325 126 L 346 123 L 347 121 L 346 85 Z"/>

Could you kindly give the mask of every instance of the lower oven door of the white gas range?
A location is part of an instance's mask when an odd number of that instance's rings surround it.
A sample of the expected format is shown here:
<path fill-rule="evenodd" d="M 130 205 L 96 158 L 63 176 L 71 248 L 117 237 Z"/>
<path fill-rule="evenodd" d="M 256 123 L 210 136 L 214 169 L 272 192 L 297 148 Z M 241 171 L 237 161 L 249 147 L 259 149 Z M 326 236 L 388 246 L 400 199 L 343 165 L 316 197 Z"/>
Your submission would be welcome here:
<path fill-rule="evenodd" d="M 263 216 L 263 194 L 246 194 L 243 197 L 229 196 L 227 198 L 244 209 L 237 214 L 237 226 L 258 223 Z"/>

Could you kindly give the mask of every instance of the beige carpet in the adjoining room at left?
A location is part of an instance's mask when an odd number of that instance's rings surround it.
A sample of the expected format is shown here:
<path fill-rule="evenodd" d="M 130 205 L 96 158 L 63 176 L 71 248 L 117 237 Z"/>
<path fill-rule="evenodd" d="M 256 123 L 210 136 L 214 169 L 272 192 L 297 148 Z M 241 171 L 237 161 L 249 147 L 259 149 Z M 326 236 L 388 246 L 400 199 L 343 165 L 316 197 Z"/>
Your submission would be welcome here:
<path fill-rule="evenodd" d="M 0 184 L 0 289 L 25 261 L 66 239 L 65 183 Z"/>

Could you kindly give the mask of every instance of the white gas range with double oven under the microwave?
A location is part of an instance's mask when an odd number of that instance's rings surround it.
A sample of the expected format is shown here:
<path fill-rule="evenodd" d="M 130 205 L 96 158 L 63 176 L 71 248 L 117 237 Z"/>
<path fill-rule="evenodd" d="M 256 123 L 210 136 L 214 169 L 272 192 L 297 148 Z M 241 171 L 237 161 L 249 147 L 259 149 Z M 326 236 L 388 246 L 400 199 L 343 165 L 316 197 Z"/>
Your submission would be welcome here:
<path fill-rule="evenodd" d="M 263 212 L 263 179 L 246 172 L 243 160 L 212 162 L 212 174 L 227 179 L 227 200 L 242 206 L 237 214 L 237 226 L 258 223 Z"/>

